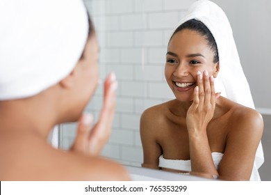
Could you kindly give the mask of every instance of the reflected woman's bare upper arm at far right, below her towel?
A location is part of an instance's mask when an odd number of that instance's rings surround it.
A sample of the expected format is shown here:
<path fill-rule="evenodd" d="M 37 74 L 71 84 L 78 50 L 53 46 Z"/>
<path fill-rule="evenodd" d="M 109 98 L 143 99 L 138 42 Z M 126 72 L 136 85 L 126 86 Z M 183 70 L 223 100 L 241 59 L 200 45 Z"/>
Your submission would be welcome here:
<path fill-rule="evenodd" d="M 263 118 L 241 107 L 233 111 L 224 156 L 218 167 L 223 180 L 249 180 L 258 143 L 263 134 Z"/>

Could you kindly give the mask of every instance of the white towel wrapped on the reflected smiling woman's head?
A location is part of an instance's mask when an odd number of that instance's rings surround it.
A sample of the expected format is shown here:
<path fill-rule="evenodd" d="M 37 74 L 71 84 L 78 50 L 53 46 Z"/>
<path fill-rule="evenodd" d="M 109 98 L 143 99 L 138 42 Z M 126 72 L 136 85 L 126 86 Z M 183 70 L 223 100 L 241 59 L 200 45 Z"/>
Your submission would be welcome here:
<path fill-rule="evenodd" d="M 255 109 L 249 84 L 240 64 L 231 25 L 224 11 L 211 1 L 196 1 L 190 6 L 186 15 L 176 25 L 176 28 L 191 19 L 203 22 L 211 31 L 217 43 L 220 72 L 215 79 L 216 91 L 221 92 L 222 96 L 234 102 Z M 172 31 L 172 34 L 174 31 Z M 263 147 L 260 142 L 254 163 L 256 169 L 260 168 L 263 162 Z M 258 174 L 258 172 L 253 174 Z"/>

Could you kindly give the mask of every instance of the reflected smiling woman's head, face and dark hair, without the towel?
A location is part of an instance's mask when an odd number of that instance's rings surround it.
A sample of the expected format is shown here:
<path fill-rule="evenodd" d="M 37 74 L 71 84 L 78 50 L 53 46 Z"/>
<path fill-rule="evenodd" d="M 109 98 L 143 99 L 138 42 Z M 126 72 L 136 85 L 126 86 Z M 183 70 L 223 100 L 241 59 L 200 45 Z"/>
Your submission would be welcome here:
<path fill-rule="evenodd" d="M 174 31 L 167 47 L 166 61 L 165 78 L 172 91 L 188 92 L 195 88 L 196 78 L 185 77 L 191 71 L 197 76 L 198 71 L 208 70 L 213 77 L 217 77 L 219 71 L 215 40 L 207 27 L 197 20 L 188 20 Z M 190 93 L 189 100 L 192 96 Z M 179 98 L 188 97 L 182 93 Z"/>

